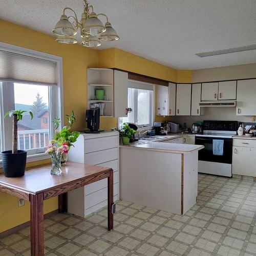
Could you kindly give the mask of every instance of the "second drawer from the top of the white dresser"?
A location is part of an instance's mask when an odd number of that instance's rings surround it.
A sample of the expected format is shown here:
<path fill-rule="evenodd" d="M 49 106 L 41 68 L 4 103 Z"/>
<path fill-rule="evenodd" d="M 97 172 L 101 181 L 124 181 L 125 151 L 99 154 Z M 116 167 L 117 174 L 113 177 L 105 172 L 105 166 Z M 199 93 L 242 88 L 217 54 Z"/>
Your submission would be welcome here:
<path fill-rule="evenodd" d="M 110 150 L 87 153 L 84 155 L 84 163 L 93 165 L 109 162 L 116 159 L 118 159 L 118 147 L 111 148 Z"/>

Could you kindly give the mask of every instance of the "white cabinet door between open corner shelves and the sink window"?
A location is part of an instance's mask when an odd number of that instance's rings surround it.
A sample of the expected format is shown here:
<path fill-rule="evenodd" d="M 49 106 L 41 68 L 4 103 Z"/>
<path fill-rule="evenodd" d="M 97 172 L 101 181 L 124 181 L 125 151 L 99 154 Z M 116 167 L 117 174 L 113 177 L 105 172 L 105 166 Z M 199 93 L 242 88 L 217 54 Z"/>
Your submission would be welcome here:
<path fill-rule="evenodd" d="M 115 117 L 127 116 L 128 73 L 114 70 Z"/>

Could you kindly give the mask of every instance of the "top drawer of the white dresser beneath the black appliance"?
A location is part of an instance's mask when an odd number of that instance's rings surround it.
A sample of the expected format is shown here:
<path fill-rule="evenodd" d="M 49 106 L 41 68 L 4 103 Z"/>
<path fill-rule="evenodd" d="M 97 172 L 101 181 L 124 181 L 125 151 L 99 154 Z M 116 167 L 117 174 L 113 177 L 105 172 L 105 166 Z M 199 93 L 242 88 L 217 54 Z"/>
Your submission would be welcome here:
<path fill-rule="evenodd" d="M 84 140 L 84 153 L 108 150 L 109 148 L 118 147 L 118 145 L 118 136 L 103 137 L 98 139 L 87 139 Z"/>

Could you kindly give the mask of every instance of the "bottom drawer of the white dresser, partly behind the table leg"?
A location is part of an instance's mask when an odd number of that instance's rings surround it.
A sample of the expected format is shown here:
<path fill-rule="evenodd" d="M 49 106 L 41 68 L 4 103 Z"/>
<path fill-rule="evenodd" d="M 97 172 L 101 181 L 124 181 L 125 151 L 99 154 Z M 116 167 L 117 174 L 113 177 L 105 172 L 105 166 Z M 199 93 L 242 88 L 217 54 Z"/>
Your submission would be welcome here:
<path fill-rule="evenodd" d="M 118 194 L 118 185 L 119 183 L 114 184 L 114 196 Z M 100 189 L 90 195 L 87 195 L 85 198 L 86 209 L 99 204 L 108 199 L 108 188 L 105 187 Z"/>

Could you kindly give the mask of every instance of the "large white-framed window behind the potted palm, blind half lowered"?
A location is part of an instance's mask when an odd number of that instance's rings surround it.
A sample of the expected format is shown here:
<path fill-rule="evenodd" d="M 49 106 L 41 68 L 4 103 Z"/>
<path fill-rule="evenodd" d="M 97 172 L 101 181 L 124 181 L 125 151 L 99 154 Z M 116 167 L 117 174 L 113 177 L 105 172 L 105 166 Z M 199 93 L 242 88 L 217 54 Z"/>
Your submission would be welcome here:
<path fill-rule="evenodd" d="M 62 117 L 61 65 L 60 57 L 0 43 L 1 151 L 12 148 L 12 119 L 4 114 L 9 110 L 32 111 L 33 119 L 25 113 L 18 121 L 18 150 L 26 150 L 34 160 L 48 157 L 44 153 L 54 136 L 52 120 Z"/>

